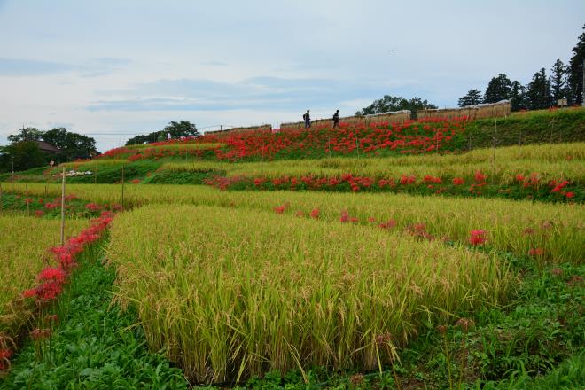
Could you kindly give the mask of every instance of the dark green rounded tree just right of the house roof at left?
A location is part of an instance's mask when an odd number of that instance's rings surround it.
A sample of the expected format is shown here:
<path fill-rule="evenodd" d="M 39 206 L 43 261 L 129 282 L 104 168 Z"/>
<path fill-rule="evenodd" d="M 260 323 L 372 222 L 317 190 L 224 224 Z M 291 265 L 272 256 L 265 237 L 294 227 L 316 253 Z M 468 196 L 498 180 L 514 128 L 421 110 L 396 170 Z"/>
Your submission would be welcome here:
<path fill-rule="evenodd" d="M 90 136 L 67 131 L 65 128 L 55 128 L 43 133 L 43 141 L 58 147 L 58 158 L 62 161 L 87 159 L 90 154 L 97 154 L 96 140 Z"/>

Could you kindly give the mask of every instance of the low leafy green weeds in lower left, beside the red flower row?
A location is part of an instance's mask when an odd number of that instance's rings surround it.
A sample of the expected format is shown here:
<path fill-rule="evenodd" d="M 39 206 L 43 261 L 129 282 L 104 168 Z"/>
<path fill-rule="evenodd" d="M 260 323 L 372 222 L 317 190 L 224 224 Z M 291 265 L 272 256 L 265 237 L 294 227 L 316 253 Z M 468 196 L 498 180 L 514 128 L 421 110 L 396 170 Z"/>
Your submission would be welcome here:
<path fill-rule="evenodd" d="M 48 335 L 43 329 L 27 341 L 0 389 L 185 389 L 181 370 L 148 352 L 136 314 L 112 306 L 115 270 L 102 265 L 101 247 L 79 260 L 66 292 L 46 309 L 56 321 L 39 321 Z"/>

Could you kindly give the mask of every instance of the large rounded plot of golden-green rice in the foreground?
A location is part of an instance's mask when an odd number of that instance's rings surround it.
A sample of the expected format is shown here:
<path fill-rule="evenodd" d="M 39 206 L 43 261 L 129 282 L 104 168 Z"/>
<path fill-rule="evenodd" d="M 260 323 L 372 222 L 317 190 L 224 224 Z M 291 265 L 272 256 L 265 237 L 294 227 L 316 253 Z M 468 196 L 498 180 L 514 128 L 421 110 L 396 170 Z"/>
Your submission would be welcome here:
<path fill-rule="evenodd" d="M 114 222 L 108 252 L 150 347 L 198 382 L 372 370 L 424 324 L 496 305 L 511 281 L 464 248 L 222 207 L 141 207 Z"/>

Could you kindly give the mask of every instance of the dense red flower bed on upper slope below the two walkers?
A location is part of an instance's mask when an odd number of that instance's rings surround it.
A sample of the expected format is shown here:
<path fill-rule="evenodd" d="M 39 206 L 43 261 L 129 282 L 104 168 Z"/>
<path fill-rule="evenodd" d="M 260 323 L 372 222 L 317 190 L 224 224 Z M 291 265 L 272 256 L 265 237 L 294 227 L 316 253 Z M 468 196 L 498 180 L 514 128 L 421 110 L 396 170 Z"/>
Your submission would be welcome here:
<path fill-rule="evenodd" d="M 374 153 L 389 149 L 400 153 L 436 152 L 448 148 L 453 136 L 464 131 L 467 118 L 427 119 L 403 123 L 378 122 L 365 125 L 341 123 L 331 129 L 323 124 L 312 129 L 273 132 L 256 130 L 200 137 L 198 142 L 227 144 L 215 149 L 219 160 L 247 157 L 274 158 L 277 154 Z"/>

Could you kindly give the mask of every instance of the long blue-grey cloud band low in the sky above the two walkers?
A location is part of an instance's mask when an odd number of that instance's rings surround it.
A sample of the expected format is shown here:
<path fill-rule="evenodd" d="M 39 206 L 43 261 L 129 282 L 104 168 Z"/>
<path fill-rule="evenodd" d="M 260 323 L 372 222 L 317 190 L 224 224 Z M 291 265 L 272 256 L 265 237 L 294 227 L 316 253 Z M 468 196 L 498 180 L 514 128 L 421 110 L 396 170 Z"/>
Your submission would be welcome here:
<path fill-rule="evenodd" d="M 239 82 L 207 79 L 157 80 L 128 90 L 106 93 L 128 98 L 102 99 L 90 111 L 222 111 L 222 110 L 299 110 L 330 109 L 347 96 L 359 101 L 406 91 L 417 82 L 373 82 L 317 78 L 259 76 Z M 397 91 L 396 94 L 399 94 Z M 408 95 L 408 93 L 407 93 Z"/>

